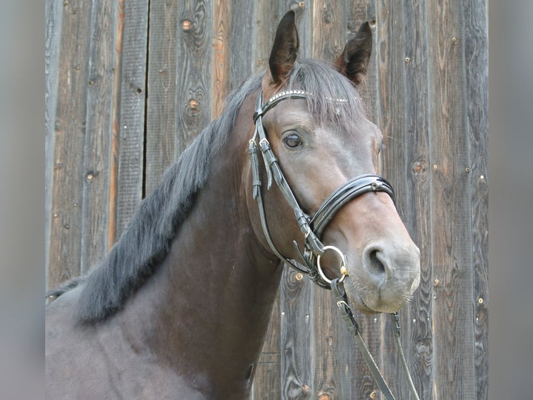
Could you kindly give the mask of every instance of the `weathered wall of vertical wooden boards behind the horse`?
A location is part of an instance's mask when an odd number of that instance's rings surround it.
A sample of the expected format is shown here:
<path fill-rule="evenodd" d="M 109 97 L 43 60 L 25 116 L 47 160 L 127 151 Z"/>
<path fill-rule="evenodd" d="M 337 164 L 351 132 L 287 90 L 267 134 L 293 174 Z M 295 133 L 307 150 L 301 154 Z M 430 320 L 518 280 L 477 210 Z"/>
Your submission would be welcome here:
<path fill-rule="evenodd" d="M 47 286 L 106 253 L 225 95 L 265 68 L 289 8 L 304 57 L 333 60 L 373 21 L 362 92 L 385 135 L 382 173 L 422 252 L 401 339 L 422 399 L 486 399 L 484 0 L 47 0 Z M 408 399 L 389 318 L 357 318 Z M 330 293 L 286 270 L 253 399 L 380 399 L 343 324 Z"/>

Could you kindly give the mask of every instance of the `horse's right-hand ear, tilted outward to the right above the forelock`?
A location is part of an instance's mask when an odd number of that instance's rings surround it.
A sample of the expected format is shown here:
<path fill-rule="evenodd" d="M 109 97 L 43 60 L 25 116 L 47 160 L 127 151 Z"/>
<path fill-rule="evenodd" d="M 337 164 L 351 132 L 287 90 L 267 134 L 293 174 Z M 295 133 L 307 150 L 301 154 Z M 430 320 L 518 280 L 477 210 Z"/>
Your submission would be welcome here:
<path fill-rule="evenodd" d="M 353 84 L 360 84 L 367 73 L 368 61 L 372 54 L 372 31 L 368 22 L 362 24 L 359 30 L 344 47 L 344 51 L 335 61 L 337 70 L 346 75 Z"/>

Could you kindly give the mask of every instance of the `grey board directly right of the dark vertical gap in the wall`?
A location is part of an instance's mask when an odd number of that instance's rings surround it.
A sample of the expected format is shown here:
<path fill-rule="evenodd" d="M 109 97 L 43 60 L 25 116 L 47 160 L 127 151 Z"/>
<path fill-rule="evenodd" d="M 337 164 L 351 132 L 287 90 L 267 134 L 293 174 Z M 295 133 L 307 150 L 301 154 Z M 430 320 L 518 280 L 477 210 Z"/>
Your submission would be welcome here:
<path fill-rule="evenodd" d="M 176 158 L 178 2 L 150 1 L 146 105 L 145 196 Z"/>

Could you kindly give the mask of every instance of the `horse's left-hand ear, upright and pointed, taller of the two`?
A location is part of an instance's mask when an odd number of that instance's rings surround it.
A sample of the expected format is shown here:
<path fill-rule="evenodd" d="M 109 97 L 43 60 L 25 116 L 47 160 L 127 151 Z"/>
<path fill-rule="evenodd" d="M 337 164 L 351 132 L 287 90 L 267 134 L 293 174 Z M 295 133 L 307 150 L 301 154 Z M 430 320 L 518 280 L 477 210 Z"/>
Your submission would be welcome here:
<path fill-rule="evenodd" d="M 294 11 L 291 10 L 280 21 L 276 31 L 276 39 L 270 53 L 269 68 L 272 83 L 278 85 L 285 82 L 296 61 L 299 39 L 296 24 L 294 22 Z"/>

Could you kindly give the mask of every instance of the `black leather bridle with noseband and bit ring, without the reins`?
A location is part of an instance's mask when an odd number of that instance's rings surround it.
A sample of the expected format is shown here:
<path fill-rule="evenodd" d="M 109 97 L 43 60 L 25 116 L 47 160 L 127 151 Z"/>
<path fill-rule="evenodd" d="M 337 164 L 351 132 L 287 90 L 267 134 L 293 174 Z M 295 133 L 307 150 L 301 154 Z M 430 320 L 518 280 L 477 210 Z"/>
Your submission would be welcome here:
<path fill-rule="evenodd" d="M 269 243 L 270 248 L 272 249 L 274 254 L 276 254 L 276 256 L 278 256 L 281 260 L 285 261 L 285 263 L 287 263 L 289 266 L 291 266 L 295 270 L 298 270 L 299 272 L 308 274 L 313 282 L 323 287 L 324 289 L 331 289 L 331 279 L 328 279 L 328 277 L 324 275 L 324 272 L 322 271 L 320 266 L 321 256 L 324 256 L 324 254 L 328 250 L 332 250 L 333 252 L 336 252 L 338 256 L 340 256 L 340 270 L 342 274 L 340 282 L 342 282 L 342 279 L 344 279 L 344 277 L 348 275 L 348 272 L 346 269 L 345 256 L 340 251 L 340 249 L 337 249 L 337 247 L 330 245 L 324 246 L 321 243 L 320 238 L 322 233 L 324 232 L 324 229 L 326 229 L 326 226 L 335 216 L 335 214 L 340 210 L 340 208 L 342 208 L 346 203 L 348 203 L 352 199 L 355 199 L 361 194 L 365 194 L 367 192 L 385 192 L 392 198 L 392 201 L 395 201 L 395 193 L 394 190 L 392 190 L 392 186 L 390 185 L 390 183 L 387 182 L 387 180 L 385 180 L 385 178 L 375 174 L 360 175 L 348 180 L 346 183 L 344 183 L 344 185 L 341 185 L 335 191 L 333 191 L 333 193 L 326 199 L 326 201 L 321 204 L 317 213 L 313 215 L 313 217 L 310 217 L 309 215 L 303 212 L 301 206 L 298 203 L 298 200 L 296 200 L 296 197 L 294 197 L 294 193 L 292 192 L 291 188 L 289 187 L 289 184 L 287 183 L 287 180 L 285 179 L 285 176 L 283 175 L 283 171 L 281 171 L 280 169 L 278 159 L 276 158 L 276 155 L 274 155 L 271 149 L 269 140 L 266 138 L 266 132 L 264 131 L 262 117 L 264 116 L 264 114 L 266 114 L 266 111 L 269 111 L 269 109 L 271 109 L 283 100 L 287 100 L 290 98 L 305 100 L 310 95 L 312 94 L 299 90 L 283 91 L 277 93 L 263 104 L 263 93 L 262 91 L 260 91 L 259 95 L 257 96 L 257 101 L 255 103 L 255 113 L 253 114 L 255 132 L 253 134 L 253 138 L 250 139 L 248 145 L 248 153 L 250 153 L 250 159 L 252 164 L 253 198 L 257 200 L 257 204 L 260 210 L 263 233 L 266 238 L 266 241 Z M 332 99 L 332 101 L 343 100 Z M 264 205 L 260 190 L 262 182 L 259 174 L 257 141 L 259 141 L 258 144 L 261 149 L 261 154 L 264 160 L 264 166 L 266 168 L 266 175 L 268 179 L 267 190 L 270 190 L 272 186 L 272 180 L 274 180 L 280 188 L 281 192 L 283 193 L 283 196 L 289 203 L 289 206 L 291 206 L 291 208 L 294 210 L 296 222 L 298 222 L 300 229 L 303 233 L 303 251 L 296 243 L 296 240 L 293 241 L 293 245 L 296 248 L 297 253 L 299 254 L 300 261 L 302 261 L 303 263 L 303 268 L 299 264 L 296 264 L 293 260 L 289 260 L 287 259 L 287 257 L 280 254 L 271 239 L 269 228 L 266 224 Z"/>

